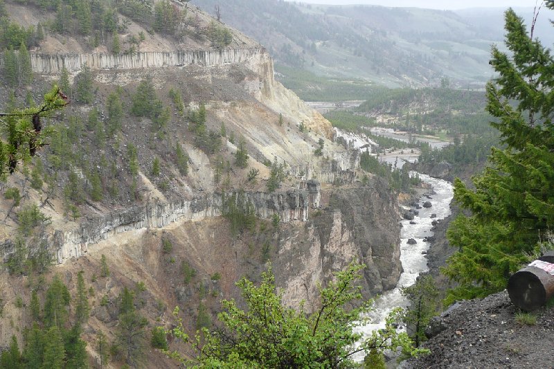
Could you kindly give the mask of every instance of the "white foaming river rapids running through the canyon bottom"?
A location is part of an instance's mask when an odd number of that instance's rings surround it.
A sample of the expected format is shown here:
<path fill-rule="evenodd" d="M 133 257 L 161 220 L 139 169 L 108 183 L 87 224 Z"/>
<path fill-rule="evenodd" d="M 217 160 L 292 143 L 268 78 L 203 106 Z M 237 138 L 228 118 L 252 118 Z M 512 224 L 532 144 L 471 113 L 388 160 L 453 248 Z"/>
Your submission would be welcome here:
<path fill-rule="evenodd" d="M 418 209 L 419 215 L 415 215 L 413 221 L 416 224 L 410 224 L 409 220 L 402 220 L 400 231 L 400 261 L 404 271 L 400 275 L 400 280 L 394 289 L 386 291 L 382 296 L 375 299 L 375 310 L 369 314 L 371 321 L 368 325 L 357 327 L 357 332 L 363 332 L 365 336 L 370 336 L 371 332 L 385 327 L 386 316 L 395 307 L 407 307 L 409 302 L 400 294 L 400 288 L 409 287 L 415 283 L 420 273 L 427 271 L 427 258 L 422 254 L 429 249 L 429 243 L 423 242 L 424 237 L 433 235 L 431 231 L 431 222 L 435 219 L 444 219 L 450 215 L 450 201 L 454 195 L 452 183 L 429 177 L 426 174 L 420 174 L 420 179 L 430 183 L 436 195 L 431 195 L 431 199 L 423 197 L 419 204 L 425 201 L 431 201 L 431 208 Z M 431 214 L 435 213 L 436 218 L 431 219 Z M 418 243 L 408 244 L 409 238 L 415 239 Z M 364 353 L 360 352 L 354 357 L 356 361 L 364 359 Z"/>

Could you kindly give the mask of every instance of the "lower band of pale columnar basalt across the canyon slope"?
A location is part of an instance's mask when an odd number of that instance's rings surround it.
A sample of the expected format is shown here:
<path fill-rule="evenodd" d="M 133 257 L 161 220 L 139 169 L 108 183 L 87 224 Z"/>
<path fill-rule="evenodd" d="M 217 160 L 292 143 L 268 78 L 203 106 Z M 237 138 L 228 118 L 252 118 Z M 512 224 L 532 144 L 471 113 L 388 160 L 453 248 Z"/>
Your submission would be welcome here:
<path fill-rule="evenodd" d="M 306 221 L 310 207 L 318 208 L 321 199 L 319 183 L 310 181 L 303 184 L 303 190 L 281 193 L 244 192 L 245 199 L 253 205 L 256 215 L 268 218 L 276 214 L 280 222 L 293 220 Z M 229 195 L 232 194 L 227 194 Z M 179 221 L 198 221 L 222 215 L 222 195 L 208 194 L 191 200 L 171 203 L 133 206 L 110 213 L 105 217 L 91 217 L 82 222 L 79 228 L 71 231 L 55 231 L 53 246 L 55 260 L 62 264 L 71 258 L 78 258 L 92 244 L 127 231 L 141 228 L 163 228 Z M 6 247 L 9 246 L 6 244 Z M 10 248 L 12 250 L 12 248 Z M 4 258 L 9 253 L 3 251 Z"/>

